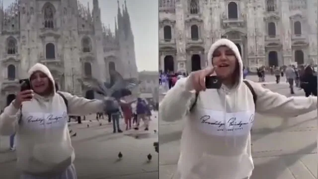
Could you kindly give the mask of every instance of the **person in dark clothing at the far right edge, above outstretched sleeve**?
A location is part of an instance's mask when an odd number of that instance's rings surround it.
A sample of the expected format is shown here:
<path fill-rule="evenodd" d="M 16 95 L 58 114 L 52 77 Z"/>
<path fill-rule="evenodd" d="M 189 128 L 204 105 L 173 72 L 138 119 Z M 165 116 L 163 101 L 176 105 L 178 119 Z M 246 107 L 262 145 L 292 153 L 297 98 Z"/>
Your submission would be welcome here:
<path fill-rule="evenodd" d="M 317 96 L 317 76 L 314 75 L 314 70 L 308 66 L 301 79 L 301 88 L 305 91 L 305 96 L 311 94 Z"/>

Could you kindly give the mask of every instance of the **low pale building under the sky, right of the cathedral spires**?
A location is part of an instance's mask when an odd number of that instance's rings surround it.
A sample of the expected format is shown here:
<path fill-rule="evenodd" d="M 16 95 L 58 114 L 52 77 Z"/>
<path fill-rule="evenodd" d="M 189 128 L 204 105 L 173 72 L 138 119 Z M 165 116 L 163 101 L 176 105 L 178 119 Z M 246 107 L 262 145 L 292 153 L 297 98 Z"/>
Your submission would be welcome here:
<path fill-rule="evenodd" d="M 142 82 L 139 85 L 139 96 L 152 99 L 154 102 L 159 102 L 159 72 L 139 72 L 139 80 Z"/>

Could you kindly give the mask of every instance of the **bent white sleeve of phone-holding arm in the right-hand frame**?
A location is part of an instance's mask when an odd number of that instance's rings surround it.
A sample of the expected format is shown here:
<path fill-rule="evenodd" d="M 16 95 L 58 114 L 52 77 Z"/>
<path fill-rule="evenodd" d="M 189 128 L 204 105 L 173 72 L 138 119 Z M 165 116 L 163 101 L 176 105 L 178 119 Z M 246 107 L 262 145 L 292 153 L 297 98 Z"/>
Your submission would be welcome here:
<path fill-rule="evenodd" d="M 167 122 L 180 120 L 189 111 L 195 100 L 195 91 L 190 76 L 178 80 L 159 103 L 159 119 Z"/>

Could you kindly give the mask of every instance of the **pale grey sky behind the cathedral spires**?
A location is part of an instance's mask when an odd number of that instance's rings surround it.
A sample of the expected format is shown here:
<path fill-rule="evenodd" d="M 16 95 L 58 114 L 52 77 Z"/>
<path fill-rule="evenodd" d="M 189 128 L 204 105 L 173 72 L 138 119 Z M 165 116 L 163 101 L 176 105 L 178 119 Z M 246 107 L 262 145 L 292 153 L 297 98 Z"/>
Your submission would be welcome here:
<path fill-rule="evenodd" d="M 3 0 L 7 7 L 15 0 Z M 93 0 L 79 0 L 92 9 Z M 119 0 L 120 7 L 124 0 Z M 114 29 L 117 0 L 99 0 L 102 22 Z M 158 71 L 158 0 L 127 0 L 127 8 L 135 40 L 138 71 Z"/>

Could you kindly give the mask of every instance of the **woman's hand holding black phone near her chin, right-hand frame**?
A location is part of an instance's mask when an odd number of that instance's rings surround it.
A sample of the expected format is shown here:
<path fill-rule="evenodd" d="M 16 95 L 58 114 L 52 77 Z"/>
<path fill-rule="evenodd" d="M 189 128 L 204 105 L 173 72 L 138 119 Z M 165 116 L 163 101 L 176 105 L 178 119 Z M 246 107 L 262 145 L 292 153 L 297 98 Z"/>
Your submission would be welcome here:
<path fill-rule="evenodd" d="M 205 77 L 211 76 L 215 72 L 215 69 L 216 67 L 208 67 L 203 70 L 191 72 L 190 80 L 191 80 L 193 89 L 195 89 L 197 92 L 206 90 L 207 88 L 205 86 Z"/>

